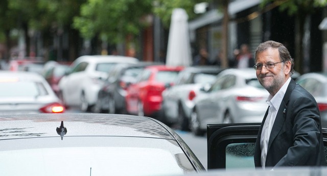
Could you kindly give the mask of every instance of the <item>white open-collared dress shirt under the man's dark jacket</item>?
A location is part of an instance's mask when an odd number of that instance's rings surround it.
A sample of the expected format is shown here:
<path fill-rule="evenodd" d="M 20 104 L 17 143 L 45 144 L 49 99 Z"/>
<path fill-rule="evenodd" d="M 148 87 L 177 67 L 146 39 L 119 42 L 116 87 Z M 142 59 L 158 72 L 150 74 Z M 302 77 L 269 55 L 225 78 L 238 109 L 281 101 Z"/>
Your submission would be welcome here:
<path fill-rule="evenodd" d="M 275 122 L 277 111 L 282 103 L 282 100 L 284 98 L 285 92 L 287 90 L 290 81 L 291 78 L 289 78 L 284 83 L 284 85 L 281 87 L 281 89 L 279 89 L 279 91 L 276 93 L 275 96 L 272 97 L 271 95 L 269 95 L 268 99 L 266 100 L 267 104 L 269 105 L 268 108 L 269 110 L 268 110 L 268 115 L 265 124 L 262 128 L 261 139 L 260 139 L 262 168 L 266 167 L 266 156 L 267 156 L 270 132 Z"/>

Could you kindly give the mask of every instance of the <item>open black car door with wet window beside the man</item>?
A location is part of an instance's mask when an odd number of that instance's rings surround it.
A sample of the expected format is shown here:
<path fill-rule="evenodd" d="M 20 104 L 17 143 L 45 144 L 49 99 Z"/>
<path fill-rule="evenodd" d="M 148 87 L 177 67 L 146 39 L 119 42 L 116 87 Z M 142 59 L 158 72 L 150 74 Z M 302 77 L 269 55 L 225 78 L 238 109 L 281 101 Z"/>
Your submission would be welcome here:
<path fill-rule="evenodd" d="M 254 148 L 260 123 L 207 125 L 207 169 L 254 169 Z M 327 128 L 322 127 L 327 161 Z"/>

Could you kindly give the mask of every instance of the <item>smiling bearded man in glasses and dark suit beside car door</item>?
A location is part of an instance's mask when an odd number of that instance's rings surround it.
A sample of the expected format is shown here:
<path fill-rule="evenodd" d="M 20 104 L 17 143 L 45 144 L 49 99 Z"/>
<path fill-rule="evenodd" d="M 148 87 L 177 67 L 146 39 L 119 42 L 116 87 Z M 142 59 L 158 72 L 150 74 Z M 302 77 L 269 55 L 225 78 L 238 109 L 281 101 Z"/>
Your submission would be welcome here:
<path fill-rule="evenodd" d="M 294 62 L 287 48 L 264 42 L 255 50 L 255 62 L 256 76 L 270 94 L 256 139 L 255 166 L 326 165 L 318 105 L 291 79 Z"/>

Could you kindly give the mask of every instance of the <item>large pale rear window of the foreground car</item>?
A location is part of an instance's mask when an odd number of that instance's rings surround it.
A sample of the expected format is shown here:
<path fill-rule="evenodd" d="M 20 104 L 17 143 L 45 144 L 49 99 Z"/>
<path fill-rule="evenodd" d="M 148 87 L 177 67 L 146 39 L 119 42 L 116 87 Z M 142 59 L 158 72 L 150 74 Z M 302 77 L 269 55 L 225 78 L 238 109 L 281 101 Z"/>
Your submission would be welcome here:
<path fill-rule="evenodd" d="M 16 146 L 10 147 L 12 145 Z M 61 140 L 58 136 L 6 140 L 2 146 L 0 170 L 4 175 L 182 175 L 195 172 L 178 144 L 165 139 L 94 136 Z"/>

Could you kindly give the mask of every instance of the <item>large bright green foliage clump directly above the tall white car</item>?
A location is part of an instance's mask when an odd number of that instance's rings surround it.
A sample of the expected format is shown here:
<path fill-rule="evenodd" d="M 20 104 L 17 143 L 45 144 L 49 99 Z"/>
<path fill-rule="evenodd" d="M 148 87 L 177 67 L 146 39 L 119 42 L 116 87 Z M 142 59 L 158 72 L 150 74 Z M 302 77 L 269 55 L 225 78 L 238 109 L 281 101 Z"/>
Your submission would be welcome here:
<path fill-rule="evenodd" d="M 147 25 L 142 19 L 151 14 L 151 10 L 151 0 L 89 0 L 82 5 L 73 25 L 84 38 L 100 34 L 108 42 L 118 43 L 127 35 L 139 35 Z"/>

